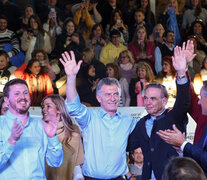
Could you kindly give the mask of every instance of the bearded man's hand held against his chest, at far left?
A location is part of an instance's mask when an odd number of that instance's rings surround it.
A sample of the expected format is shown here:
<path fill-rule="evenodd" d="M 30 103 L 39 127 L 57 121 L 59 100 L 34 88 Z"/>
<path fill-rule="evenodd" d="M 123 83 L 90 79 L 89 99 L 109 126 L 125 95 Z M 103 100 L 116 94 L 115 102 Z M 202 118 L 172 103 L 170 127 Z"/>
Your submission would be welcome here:
<path fill-rule="evenodd" d="M 23 134 L 22 132 L 22 126 L 17 123 L 17 120 L 14 120 L 12 129 L 11 129 L 11 135 L 9 137 L 9 143 L 12 145 L 16 144 L 16 141 L 19 140 L 20 136 Z"/>

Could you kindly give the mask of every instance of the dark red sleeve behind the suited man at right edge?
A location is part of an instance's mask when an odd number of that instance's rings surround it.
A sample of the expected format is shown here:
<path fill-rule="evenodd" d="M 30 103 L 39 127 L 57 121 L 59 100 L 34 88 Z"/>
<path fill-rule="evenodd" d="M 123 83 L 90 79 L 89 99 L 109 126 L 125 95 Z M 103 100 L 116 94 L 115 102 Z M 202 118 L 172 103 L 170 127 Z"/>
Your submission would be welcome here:
<path fill-rule="evenodd" d="M 194 144 L 196 144 L 200 140 L 203 131 L 207 125 L 207 116 L 202 114 L 201 105 L 198 104 L 199 98 L 194 92 L 192 85 L 190 88 L 190 95 L 191 95 L 191 104 L 188 112 L 192 116 L 194 121 L 197 123 L 195 136 L 194 136 Z"/>

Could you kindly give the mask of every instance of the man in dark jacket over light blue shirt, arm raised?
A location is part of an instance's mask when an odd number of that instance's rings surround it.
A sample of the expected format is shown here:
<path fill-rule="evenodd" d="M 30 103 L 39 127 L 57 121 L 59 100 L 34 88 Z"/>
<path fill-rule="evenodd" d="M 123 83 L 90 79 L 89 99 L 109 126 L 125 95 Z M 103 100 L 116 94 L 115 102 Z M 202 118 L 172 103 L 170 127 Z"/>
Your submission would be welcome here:
<path fill-rule="evenodd" d="M 156 132 L 172 127 L 176 124 L 180 130 L 185 130 L 187 110 L 190 105 L 189 80 L 185 69 L 187 59 L 195 54 L 192 41 L 185 47 L 176 47 L 172 57 L 173 66 L 177 71 L 177 97 L 171 111 L 165 106 L 168 101 L 166 88 L 159 83 L 151 83 L 145 87 L 144 106 L 148 115 L 140 119 L 129 136 L 128 150 L 141 147 L 144 154 L 142 179 L 161 179 L 162 172 L 169 158 L 178 153 L 169 144 L 165 143 Z"/>

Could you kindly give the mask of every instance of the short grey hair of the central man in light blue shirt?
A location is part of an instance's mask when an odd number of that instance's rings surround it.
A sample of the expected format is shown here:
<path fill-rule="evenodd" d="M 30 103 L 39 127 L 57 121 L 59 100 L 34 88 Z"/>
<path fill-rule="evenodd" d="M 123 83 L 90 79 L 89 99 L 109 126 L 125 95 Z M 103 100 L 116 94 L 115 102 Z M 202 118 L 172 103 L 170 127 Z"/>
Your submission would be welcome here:
<path fill-rule="evenodd" d="M 118 91 L 119 91 L 119 95 L 121 95 L 121 86 L 120 86 L 119 81 L 116 78 L 106 77 L 106 78 L 101 79 L 99 81 L 97 87 L 96 87 L 96 95 L 100 95 L 101 94 L 101 87 L 103 85 L 117 85 Z"/>

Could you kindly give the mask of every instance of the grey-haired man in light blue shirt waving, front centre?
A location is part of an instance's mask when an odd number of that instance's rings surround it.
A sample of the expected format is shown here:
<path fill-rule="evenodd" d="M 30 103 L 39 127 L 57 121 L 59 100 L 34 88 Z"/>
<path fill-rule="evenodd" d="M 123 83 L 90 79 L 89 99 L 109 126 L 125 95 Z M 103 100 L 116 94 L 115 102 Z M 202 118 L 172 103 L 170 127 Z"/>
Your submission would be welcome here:
<path fill-rule="evenodd" d="M 65 52 L 60 59 L 67 76 L 67 107 L 83 133 L 86 180 L 121 180 L 128 173 L 126 146 L 129 134 L 137 122 L 117 110 L 120 103 L 120 84 L 114 78 L 104 78 L 96 87 L 101 107 L 88 109 L 80 103 L 76 90 L 76 76 L 82 61 L 76 64 L 74 53 Z"/>

